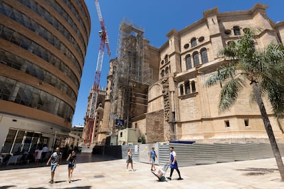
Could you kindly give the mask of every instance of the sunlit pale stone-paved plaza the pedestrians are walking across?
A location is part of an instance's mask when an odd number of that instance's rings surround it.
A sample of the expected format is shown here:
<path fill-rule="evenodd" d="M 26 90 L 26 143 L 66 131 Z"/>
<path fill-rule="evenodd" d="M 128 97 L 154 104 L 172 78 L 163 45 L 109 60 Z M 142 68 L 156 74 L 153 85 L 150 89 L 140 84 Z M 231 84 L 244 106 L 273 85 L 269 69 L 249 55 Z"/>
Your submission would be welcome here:
<path fill-rule="evenodd" d="M 50 168 L 44 163 L 2 165 L 0 188 L 284 188 L 274 158 L 180 167 L 183 180 L 176 180 L 174 171 L 171 181 L 158 181 L 149 164 L 134 162 L 134 171 L 126 171 L 126 160 L 81 153 L 70 184 L 65 162 L 56 169 L 54 184 L 48 183 Z"/>

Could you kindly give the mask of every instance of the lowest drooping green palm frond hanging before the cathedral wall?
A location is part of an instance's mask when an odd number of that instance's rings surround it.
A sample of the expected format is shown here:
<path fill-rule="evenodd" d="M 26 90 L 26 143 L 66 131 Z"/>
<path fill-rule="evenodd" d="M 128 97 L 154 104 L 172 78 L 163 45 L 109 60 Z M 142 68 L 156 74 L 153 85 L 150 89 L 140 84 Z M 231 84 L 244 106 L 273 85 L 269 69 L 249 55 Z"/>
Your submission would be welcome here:
<path fill-rule="evenodd" d="M 235 103 L 239 92 L 244 88 L 245 81 L 240 77 L 230 79 L 220 92 L 219 110 L 228 110 Z"/>

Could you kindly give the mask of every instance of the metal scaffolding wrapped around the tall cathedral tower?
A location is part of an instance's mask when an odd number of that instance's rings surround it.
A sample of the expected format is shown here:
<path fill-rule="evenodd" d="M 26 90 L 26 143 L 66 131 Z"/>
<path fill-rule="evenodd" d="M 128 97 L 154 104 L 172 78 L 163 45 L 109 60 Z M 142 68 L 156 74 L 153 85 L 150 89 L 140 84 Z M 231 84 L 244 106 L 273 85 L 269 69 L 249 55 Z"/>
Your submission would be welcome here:
<path fill-rule="evenodd" d="M 115 119 L 131 127 L 133 118 L 147 112 L 147 90 L 154 83 L 144 30 L 123 19 L 119 27 L 117 61 L 113 64 L 110 127 Z M 110 131 L 114 131 L 114 129 Z"/>

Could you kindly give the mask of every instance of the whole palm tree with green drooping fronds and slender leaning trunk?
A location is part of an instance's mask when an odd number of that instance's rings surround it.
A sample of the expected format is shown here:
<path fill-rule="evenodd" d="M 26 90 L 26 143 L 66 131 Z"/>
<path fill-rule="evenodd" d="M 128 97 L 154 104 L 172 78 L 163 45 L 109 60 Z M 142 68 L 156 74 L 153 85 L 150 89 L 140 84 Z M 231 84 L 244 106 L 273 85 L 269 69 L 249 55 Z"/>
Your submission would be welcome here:
<path fill-rule="evenodd" d="M 206 86 L 210 87 L 220 83 L 222 89 L 220 92 L 219 111 L 223 112 L 235 103 L 239 92 L 246 85 L 246 81 L 250 81 L 253 100 L 259 106 L 281 180 L 284 181 L 284 166 L 281 153 L 262 99 L 265 97 L 270 101 L 277 119 L 283 118 L 284 46 L 270 44 L 265 49 L 255 49 L 255 38 L 260 31 L 261 29 L 244 31 L 244 36 L 237 42 L 230 42 L 221 51 L 221 54 L 229 58 L 229 61 L 226 65 L 217 68 L 217 71 L 206 80 Z"/>

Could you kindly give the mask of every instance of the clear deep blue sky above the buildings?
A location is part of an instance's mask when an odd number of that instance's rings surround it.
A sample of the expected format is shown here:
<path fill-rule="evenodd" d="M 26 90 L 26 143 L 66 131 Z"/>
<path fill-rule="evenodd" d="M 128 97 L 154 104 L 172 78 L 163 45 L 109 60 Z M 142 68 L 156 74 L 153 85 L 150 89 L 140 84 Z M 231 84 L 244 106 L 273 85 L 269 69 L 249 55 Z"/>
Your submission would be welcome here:
<path fill-rule="evenodd" d="M 84 116 L 88 104 L 88 93 L 95 81 L 97 55 L 99 53 L 101 29 L 95 0 L 85 0 L 91 17 L 91 35 L 84 62 L 84 68 L 79 88 L 79 95 L 75 107 L 72 125 L 84 125 Z M 111 55 L 105 48 L 104 61 L 99 85 L 106 87 L 106 77 L 109 71 L 109 62 L 117 57 L 117 42 L 119 25 L 123 18 L 144 29 L 144 37 L 150 45 L 161 47 L 167 42 L 167 33 L 171 29 L 181 29 L 203 18 L 203 12 L 218 8 L 219 12 L 250 10 L 256 3 L 268 5 L 266 10 L 269 18 L 275 23 L 284 21 L 284 1 L 279 0 L 99 0 L 102 16 L 106 25 Z"/>

